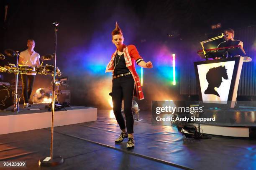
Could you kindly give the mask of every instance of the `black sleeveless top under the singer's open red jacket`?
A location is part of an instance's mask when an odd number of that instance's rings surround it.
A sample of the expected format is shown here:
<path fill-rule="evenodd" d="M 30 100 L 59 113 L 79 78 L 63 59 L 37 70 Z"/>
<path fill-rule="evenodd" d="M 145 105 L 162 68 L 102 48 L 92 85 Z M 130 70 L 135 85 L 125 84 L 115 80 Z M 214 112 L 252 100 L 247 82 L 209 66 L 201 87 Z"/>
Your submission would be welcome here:
<path fill-rule="evenodd" d="M 126 67 L 123 54 L 121 56 L 119 56 L 118 53 L 116 53 L 116 56 L 114 59 L 114 67 L 115 67 L 114 76 L 130 72 L 129 69 Z"/>

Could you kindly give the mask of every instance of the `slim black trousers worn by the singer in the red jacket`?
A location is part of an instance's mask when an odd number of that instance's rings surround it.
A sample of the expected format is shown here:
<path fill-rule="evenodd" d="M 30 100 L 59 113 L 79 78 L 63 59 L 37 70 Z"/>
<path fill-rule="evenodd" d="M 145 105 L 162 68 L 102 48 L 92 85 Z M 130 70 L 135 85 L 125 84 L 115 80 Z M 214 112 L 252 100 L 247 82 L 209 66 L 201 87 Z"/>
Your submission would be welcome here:
<path fill-rule="evenodd" d="M 133 133 L 133 92 L 134 92 L 134 80 L 133 76 L 127 75 L 118 77 L 112 80 L 112 100 L 113 100 L 113 111 L 115 119 L 118 122 L 120 129 L 125 129 L 125 121 L 121 112 L 122 99 L 124 101 L 124 113 L 126 120 L 126 127 L 128 133 Z"/>

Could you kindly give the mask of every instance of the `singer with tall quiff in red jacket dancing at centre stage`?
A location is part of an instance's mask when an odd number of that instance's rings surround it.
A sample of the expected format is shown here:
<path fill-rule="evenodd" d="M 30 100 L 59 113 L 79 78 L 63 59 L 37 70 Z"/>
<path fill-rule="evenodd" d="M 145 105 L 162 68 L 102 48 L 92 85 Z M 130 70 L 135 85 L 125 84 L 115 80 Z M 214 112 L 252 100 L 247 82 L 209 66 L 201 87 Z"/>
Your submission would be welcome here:
<path fill-rule="evenodd" d="M 128 137 L 126 147 L 131 149 L 135 146 L 133 137 L 134 118 L 132 113 L 133 95 L 139 100 L 144 99 L 141 84 L 136 73 L 135 63 L 144 68 L 152 68 L 151 61 L 147 63 L 139 55 L 134 45 L 123 44 L 123 33 L 118 24 L 112 31 L 112 42 L 116 46 L 115 53 L 111 56 L 106 72 L 113 72 L 112 101 L 115 118 L 121 129 L 121 134 L 115 143 L 120 143 Z M 122 100 L 124 101 L 125 120 L 121 113 Z M 125 124 L 126 122 L 126 124 Z M 126 125 L 126 126 L 125 126 Z M 127 129 L 127 130 L 126 130 Z"/>

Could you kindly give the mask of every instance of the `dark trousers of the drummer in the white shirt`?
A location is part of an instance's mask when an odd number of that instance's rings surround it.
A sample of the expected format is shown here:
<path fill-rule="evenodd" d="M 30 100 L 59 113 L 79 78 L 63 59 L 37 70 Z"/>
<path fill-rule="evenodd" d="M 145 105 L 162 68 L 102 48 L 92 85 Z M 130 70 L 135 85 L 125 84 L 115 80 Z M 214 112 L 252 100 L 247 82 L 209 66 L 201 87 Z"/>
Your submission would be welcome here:
<path fill-rule="evenodd" d="M 28 103 L 36 76 L 21 74 L 24 103 Z"/>

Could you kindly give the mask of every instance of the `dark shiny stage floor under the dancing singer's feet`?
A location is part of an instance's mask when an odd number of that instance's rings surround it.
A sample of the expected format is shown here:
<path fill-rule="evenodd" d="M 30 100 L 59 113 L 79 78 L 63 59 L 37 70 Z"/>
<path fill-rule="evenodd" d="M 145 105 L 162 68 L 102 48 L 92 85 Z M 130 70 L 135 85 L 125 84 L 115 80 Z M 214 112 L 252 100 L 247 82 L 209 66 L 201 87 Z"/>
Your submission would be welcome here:
<path fill-rule="evenodd" d="M 49 156 L 50 128 L 0 135 L 0 161 L 26 161 L 30 170 L 253 170 L 256 140 L 212 137 L 186 140 L 175 127 L 151 124 L 151 113 L 140 112 L 135 122 L 136 147 L 116 145 L 120 129 L 108 110 L 97 121 L 54 127 L 54 155 L 64 157 L 56 167 L 39 167 Z"/>

